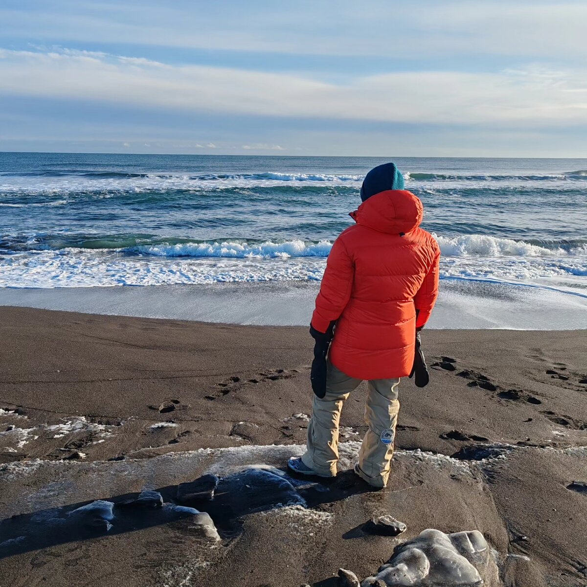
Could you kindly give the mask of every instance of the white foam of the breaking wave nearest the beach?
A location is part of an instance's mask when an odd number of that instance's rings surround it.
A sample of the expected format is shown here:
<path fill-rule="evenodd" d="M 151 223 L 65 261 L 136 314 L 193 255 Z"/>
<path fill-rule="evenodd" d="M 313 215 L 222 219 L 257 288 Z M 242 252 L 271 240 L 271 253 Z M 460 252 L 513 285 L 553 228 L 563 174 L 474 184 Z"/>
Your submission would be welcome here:
<path fill-rule="evenodd" d="M 503 282 L 587 275 L 587 245 L 565 250 L 490 235 L 437 237 L 443 278 Z M 210 241 L 129 249 L 66 248 L 8 255 L 0 287 L 55 288 L 319 281 L 330 241 Z M 130 253 L 130 254 L 126 254 Z M 139 253 L 139 254 L 137 254 Z"/>

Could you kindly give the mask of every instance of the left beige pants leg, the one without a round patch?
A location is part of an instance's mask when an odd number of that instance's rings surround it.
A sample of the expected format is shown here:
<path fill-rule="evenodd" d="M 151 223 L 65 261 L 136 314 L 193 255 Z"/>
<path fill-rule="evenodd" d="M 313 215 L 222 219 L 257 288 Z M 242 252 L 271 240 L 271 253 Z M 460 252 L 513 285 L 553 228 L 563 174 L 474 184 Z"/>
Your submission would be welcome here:
<path fill-rule="evenodd" d="M 326 395 L 322 399 L 314 396 L 306 452 L 302 456 L 302 463 L 316 473 L 336 475 L 340 411 L 343 402 L 360 382 L 328 362 Z"/>

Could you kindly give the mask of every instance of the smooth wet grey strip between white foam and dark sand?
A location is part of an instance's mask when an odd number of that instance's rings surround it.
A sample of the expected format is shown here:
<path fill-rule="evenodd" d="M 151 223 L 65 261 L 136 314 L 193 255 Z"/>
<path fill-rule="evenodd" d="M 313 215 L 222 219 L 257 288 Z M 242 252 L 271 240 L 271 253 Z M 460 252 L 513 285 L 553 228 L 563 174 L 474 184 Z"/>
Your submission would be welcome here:
<path fill-rule="evenodd" d="M 0 288 L 0 306 L 259 326 L 309 324 L 319 282 Z M 427 329 L 587 329 L 587 298 L 575 292 L 444 279 Z"/>

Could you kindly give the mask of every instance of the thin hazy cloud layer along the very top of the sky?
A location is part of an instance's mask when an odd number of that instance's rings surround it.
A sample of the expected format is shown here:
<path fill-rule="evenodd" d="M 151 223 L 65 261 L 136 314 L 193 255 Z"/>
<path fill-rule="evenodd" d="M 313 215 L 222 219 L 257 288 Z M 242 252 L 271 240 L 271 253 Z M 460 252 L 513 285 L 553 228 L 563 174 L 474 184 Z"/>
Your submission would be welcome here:
<path fill-rule="evenodd" d="M 292 55 L 507 55 L 587 58 L 584 1 L 323 0 L 194 3 L 28 2 L 0 9 L 0 36 Z M 36 9 L 35 9 L 36 6 Z M 243 22 L 246 21 L 246 26 Z"/>

